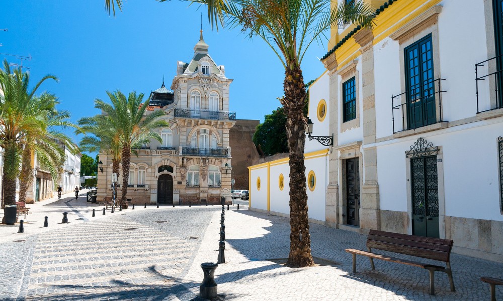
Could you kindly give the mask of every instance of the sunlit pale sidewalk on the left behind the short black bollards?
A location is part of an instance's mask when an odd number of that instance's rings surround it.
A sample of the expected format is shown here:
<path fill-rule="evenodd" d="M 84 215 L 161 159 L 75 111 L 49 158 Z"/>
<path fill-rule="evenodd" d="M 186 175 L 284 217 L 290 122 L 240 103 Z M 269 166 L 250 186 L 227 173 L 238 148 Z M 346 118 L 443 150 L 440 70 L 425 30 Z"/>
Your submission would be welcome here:
<path fill-rule="evenodd" d="M 27 236 L 33 234 L 82 223 L 91 218 L 93 209 L 96 210 L 96 218 L 104 217 L 102 215 L 103 206 L 86 202 L 86 193 L 88 191 L 87 189 L 81 190 L 77 200 L 75 200 L 75 193 L 71 192 L 62 195 L 59 200 L 56 197 L 35 202 L 35 204 L 26 204 L 26 207 L 30 208 L 30 213 L 26 215 L 26 218 L 24 218 L 24 214 L 20 214 L 18 222 L 14 225 L 0 224 L 0 243 L 26 239 Z M 109 207 L 107 213 L 110 213 L 110 210 Z M 63 212 L 68 212 L 68 224 L 61 223 Z M 44 218 L 46 216 L 49 227 L 44 228 Z M 0 220 L 3 217 L 4 210 L 0 210 Z M 24 233 L 18 233 L 20 220 L 23 220 Z"/>

